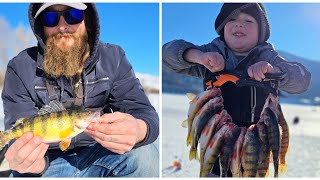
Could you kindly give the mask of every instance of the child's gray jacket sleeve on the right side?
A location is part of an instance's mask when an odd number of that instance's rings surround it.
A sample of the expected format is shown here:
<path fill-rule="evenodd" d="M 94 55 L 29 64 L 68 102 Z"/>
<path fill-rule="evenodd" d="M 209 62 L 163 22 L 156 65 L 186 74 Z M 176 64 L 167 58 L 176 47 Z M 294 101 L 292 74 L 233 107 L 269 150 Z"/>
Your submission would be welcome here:
<path fill-rule="evenodd" d="M 280 90 L 291 94 L 300 94 L 308 89 L 311 73 L 305 66 L 298 62 L 288 62 L 273 48 L 263 54 L 263 59 L 268 59 L 271 65 L 278 67 L 282 72 L 286 73 L 285 77 L 280 81 Z"/>

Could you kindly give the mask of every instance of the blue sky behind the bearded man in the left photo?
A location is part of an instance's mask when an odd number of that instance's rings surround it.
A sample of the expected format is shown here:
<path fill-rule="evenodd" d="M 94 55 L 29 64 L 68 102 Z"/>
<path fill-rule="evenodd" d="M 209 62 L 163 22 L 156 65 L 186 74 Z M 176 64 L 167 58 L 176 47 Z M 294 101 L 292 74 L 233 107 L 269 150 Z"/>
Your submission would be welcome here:
<path fill-rule="evenodd" d="M 29 28 L 28 3 L 0 3 L 0 17 Z M 135 72 L 159 75 L 159 4 L 97 3 L 104 42 L 120 45 Z M 1 33 L 1 29 L 0 29 Z"/>

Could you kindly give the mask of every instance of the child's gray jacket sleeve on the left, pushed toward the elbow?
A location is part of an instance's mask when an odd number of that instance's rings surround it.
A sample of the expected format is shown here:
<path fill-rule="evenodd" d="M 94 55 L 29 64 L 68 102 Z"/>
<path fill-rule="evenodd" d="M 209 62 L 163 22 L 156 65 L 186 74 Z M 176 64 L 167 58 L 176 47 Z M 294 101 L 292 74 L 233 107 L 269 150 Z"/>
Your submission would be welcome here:
<path fill-rule="evenodd" d="M 207 52 L 207 45 L 196 46 L 181 39 L 170 41 L 162 47 L 162 64 L 177 73 L 203 77 L 204 66 L 184 59 L 184 53 L 188 49 Z"/>

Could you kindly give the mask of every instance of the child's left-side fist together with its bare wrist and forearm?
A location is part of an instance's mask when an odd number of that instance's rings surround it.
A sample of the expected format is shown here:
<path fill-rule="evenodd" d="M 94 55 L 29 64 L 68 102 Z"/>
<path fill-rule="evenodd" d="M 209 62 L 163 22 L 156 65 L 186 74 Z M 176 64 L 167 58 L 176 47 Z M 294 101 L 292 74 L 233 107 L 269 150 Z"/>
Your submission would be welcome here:
<path fill-rule="evenodd" d="M 187 61 L 202 64 L 211 72 L 218 72 L 224 69 L 223 56 L 217 52 L 202 52 L 197 49 L 189 49 L 185 54 Z"/>

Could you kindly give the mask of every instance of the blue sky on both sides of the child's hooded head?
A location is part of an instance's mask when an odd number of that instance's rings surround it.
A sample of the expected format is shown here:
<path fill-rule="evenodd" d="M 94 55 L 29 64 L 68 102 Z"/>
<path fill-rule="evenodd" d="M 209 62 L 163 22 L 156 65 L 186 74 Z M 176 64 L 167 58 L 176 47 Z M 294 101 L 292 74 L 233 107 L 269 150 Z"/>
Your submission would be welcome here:
<path fill-rule="evenodd" d="M 320 3 L 264 3 L 277 50 L 320 61 Z M 222 3 L 163 3 L 162 44 L 185 39 L 197 45 L 217 37 L 214 22 Z"/>

